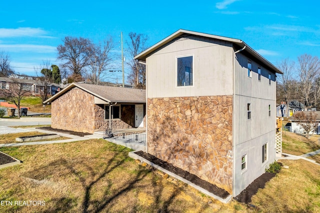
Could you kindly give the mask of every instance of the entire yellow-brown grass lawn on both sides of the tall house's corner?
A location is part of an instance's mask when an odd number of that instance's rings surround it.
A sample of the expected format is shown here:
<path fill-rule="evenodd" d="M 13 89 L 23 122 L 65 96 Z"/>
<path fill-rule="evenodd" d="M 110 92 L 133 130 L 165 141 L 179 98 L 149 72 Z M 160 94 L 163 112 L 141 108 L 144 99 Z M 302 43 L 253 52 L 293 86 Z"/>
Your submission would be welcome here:
<path fill-rule="evenodd" d="M 252 205 L 232 200 L 220 210 L 185 184 L 176 186 L 128 157 L 127 148 L 105 140 L 6 147 L 22 164 L 0 170 L 1 201 L 44 201 L 45 206 L 0 206 L 0 212 L 319 212 L 320 167 L 281 161 L 282 169 Z"/>

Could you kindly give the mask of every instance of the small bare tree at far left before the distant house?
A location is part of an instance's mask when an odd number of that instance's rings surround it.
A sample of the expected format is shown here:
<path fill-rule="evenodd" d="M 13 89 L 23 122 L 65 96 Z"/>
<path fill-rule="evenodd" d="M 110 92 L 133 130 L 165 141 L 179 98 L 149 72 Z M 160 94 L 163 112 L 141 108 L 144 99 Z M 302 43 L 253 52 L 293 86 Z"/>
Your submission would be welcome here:
<path fill-rule="evenodd" d="M 20 82 L 18 78 L 10 79 L 8 89 L 3 89 L 3 93 L 8 101 L 14 103 L 18 110 L 18 118 L 20 118 L 20 101 L 27 95 L 30 95 L 30 88 Z"/>

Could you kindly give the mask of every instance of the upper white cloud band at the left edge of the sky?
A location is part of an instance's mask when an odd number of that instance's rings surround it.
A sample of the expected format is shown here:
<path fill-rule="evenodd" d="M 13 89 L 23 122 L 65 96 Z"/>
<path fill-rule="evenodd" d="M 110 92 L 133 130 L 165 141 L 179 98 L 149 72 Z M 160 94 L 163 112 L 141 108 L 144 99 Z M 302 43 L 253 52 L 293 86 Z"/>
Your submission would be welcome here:
<path fill-rule="evenodd" d="M 48 37 L 47 32 L 40 28 L 19 27 L 19 28 L 0 28 L 0 37 Z"/>

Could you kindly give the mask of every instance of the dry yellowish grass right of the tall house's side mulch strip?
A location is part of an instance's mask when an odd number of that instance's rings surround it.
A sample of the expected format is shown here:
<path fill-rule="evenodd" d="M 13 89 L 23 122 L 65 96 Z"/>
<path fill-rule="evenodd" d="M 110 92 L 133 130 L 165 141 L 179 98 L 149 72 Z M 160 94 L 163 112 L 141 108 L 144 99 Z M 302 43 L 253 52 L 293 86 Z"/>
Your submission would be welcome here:
<path fill-rule="evenodd" d="M 281 160 L 289 166 L 252 197 L 258 212 L 320 212 L 320 167 L 304 160 Z"/>

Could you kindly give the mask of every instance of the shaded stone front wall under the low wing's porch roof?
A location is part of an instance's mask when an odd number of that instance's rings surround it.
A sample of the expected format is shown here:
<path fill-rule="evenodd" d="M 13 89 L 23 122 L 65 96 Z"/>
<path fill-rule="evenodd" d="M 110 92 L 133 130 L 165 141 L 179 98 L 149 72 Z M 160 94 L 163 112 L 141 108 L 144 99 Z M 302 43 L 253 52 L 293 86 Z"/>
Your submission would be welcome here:
<path fill-rule="evenodd" d="M 103 104 L 94 105 L 94 114 L 95 114 L 94 131 L 104 131 L 105 129 L 108 129 L 109 120 L 104 120 Z M 121 114 L 122 114 L 122 111 L 121 111 Z M 123 116 L 121 115 L 121 117 Z M 134 117 L 134 114 L 133 114 L 133 117 Z M 112 119 L 111 129 L 115 130 L 115 129 L 127 129 L 127 128 L 132 128 L 132 126 L 130 126 L 129 124 L 125 123 L 120 119 Z"/>

